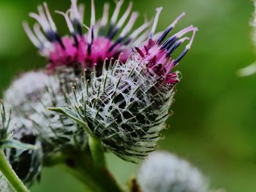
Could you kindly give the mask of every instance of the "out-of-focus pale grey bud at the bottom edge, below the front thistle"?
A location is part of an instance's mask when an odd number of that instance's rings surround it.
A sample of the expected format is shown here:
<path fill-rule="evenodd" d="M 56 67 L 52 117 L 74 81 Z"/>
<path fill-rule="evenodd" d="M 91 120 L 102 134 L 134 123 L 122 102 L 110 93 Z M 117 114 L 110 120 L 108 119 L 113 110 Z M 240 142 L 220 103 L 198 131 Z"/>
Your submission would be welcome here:
<path fill-rule="evenodd" d="M 143 192 L 206 192 L 208 182 L 187 161 L 165 152 L 148 156 L 138 171 Z"/>

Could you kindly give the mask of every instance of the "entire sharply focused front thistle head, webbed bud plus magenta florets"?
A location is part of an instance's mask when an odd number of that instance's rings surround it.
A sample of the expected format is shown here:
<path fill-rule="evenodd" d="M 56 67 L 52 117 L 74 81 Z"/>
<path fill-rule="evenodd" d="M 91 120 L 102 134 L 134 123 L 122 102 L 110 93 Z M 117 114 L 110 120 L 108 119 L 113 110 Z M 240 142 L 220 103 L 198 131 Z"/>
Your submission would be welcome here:
<path fill-rule="evenodd" d="M 189 31 L 194 32 L 184 52 L 168 62 L 170 39 L 165 44 L 167 47 L 160 43 L 184 14 L 159 39 L 154 40 L 159 11 L 157 9 L 148 42 L 143 48 L 136 47 L 138 53 L 131 55 L 126 64 L 116 60 L 112 67 L 105 69 L 104 65 L 99 77 L 94 70 L 90 80 L 83 78 L 81 85 L 73 89 L 71 109 L 51 108 L 80 123 L 105 148 L 127 161 L 144 158 L 157 147 L 178 82 L 178 72 L 169 74 L 170 68 L 187 53 L 197 30 L 194 27 L 185 28 L 170 38 L 175 46 L 172 49 L 175 49 L 183 41 L 178 38 Z"/>

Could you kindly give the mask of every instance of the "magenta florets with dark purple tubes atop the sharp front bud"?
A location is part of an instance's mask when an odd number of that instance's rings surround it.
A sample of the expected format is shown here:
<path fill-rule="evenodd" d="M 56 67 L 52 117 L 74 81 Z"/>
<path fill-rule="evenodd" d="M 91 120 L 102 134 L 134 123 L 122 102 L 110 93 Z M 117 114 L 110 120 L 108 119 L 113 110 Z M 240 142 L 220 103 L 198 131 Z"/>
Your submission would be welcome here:
<path fill-rule="evenodd" d="M 148 69 L 151 69 L 151 71 L 161 77 L 161 80 L 164 80 L 170 85 L 175 85 L 179 81 L 178 72 L 171 71 L 189 51 L 195 38 L 197 28 L 189 26 L 166 39 L 167 35 L 178 23 L 178 20 L 184 17 L 185 13 L 183 12 L 158 38 L 154 38 L 154 31 L 156 30 L 161 11 L 162 7 L 157 8 L 157 14 L 148 40 L 140 47 L 135 47 L 135 50 L 137 51 L 137 57 L 135 58 L 140 64 L 146 65 Z M 189 32 L 192 32 L 192 37 L 184 37 Z M 189 43 L 182 51 L 181 55 L 178 55 L 177 58 L 173 58 L 173 52 L 186 41 L 189 41 Z"/>

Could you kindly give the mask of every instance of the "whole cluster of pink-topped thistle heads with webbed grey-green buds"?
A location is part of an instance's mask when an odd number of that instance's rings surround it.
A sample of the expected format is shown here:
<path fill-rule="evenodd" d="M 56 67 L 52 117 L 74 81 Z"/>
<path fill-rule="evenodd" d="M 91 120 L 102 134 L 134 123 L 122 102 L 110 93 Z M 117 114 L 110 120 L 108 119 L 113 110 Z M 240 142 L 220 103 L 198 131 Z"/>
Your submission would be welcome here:
<path fill-rule="evenodd" d="M 38 14 L 29 14 L 37 23 L 33 30 L 23 23 L 25 31 L 49 63 L 46 70 L 21 75 L 4 93 L 18 122 L 13 137 L 39 149 L 6 152 L 15 172 L 27 183 L 39 178 L 48 158 L 83 151 L 90 137 L 126 161 L 137 162 L 154 151 L 180 81 L 173 69 L 188 53 L 197 31 L 189 26 L 167 38 L 184 17 L 182 13 L 165 31 L 155 34 L 162 7 L 157 8 L 152 27 L 146 20 L 132 31 L 138 18 L 132 3 L 118 19 L 124 0 L 116 2 L 110 19 L 110 5 L 105 3 L 98 21 L 91 0 L 91 26 L 87 27 L 83 5 L 71 2 L 67 12 L 56 11 L 64 16 L 70 36 L 59 36 L 47 4 L 38 7 Z"/>

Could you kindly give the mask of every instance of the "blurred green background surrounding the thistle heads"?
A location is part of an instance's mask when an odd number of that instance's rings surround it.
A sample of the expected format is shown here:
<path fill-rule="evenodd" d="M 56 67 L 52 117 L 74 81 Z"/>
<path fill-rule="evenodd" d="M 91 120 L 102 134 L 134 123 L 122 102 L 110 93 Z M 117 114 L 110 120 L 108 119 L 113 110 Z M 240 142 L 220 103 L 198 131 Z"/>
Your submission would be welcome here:
<path fill-rule="evenodd" d="M 97 18 L 104 1 L 96 1 Z M 112 5 L 113 1 L 110 1 Z M 44 67 L 23 32 L 21 23 L 36 11 L 35 0 L 0 0 L 0 91 L 15 75 Z M 89 0 L 86 23 L 89 23 Z M 126 2 L 126 4 L 128 1 Z M 52 10 L 66 10 L 68 0 L 48 1 Z M 187 17 L 176 30 L 193 24 L 199 28 L 192 50 L 178 66 L 183 80 L 178 85 L 174 115 L 159 148 L 176 153 L 198 166 L 214 188 L 233 192 L 256 191 L 256 75 L 237 77 L 236 71 L 255 61 L 250 39 L 253 4 L 249 0 L 140 0 L 134 9 L 153 17 L 164 7 L 159 30 L 181 12 Z M 113 8 L 113 6 L 112 6 Z M 140 15 L 138 24 L 143 20 Z M 67 33 L 64 19 L 54 15 L 61 34 Z M 140 21 L 140 22 L 139 22 Z M 108 155 L 108 164 L 125 183 L 138 165 Z M 82 185 L 61 167 L 43 169 L 41 183 L 32 192 L 80 192 Z"/>

